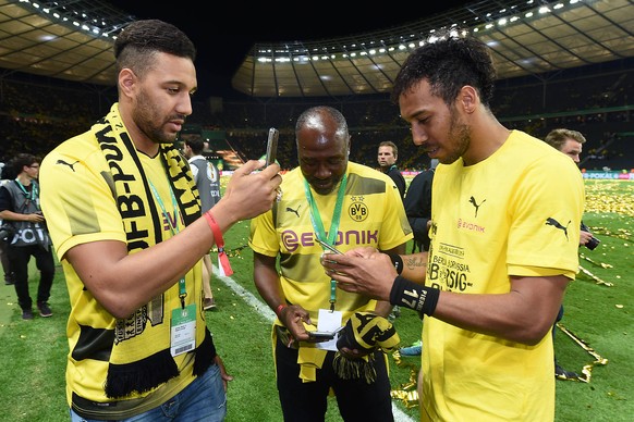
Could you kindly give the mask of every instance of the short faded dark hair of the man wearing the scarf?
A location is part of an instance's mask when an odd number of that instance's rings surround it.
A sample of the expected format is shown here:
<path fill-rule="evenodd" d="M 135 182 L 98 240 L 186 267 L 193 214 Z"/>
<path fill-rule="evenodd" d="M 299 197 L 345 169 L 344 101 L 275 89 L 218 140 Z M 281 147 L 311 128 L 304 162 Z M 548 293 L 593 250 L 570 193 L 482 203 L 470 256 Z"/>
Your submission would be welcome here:
<path fill-rule="evenodd" d="M 114 40 L 117 71 L 130 67 L 143 74 L 151 67 L 157 52 L 196 60 L 194 44 L 174 25 L 159 20 L 136 21 Z"/>

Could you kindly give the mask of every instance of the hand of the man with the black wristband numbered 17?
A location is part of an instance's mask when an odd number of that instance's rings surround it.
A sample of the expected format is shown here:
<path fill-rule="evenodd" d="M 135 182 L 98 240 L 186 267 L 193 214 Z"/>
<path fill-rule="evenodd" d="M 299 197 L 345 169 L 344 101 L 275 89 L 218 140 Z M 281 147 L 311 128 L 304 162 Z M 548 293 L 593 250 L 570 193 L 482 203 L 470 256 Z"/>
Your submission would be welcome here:
<path fill-rule="evenodd" d="M 344 255 L 324 253 L 321 265 L 342 290 L 390 300 L 390 290 L 398 274 L 386 253 L 368 247 L 349 250 Z"/>

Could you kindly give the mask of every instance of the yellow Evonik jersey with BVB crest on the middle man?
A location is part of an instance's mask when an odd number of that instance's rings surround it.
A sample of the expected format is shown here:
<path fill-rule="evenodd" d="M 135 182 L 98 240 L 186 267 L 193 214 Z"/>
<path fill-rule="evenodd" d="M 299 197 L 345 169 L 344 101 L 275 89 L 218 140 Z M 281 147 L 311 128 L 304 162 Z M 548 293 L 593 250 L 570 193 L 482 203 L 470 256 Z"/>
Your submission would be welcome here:
<path fill-rule="evenodd" d="M 321 246 L 315 241 L 310 206 L 306 198 L 304 176 L 296 167 L 284 174 L 281 202 L 251 222 L 251 248 L 261 255 L 280 255 L 281 284 L 286 300 L 310 312 L 317 324 L 318 310 L 330 307 L 330 277 L 319 262 Z M 313 198 L 328 232 L 337 201 L 337 191 Z M 405 244 L 413 237 L 403 201 L 394 183 L 387 175 L 350 162 L 348 185 L 341 209 L 336 246 L 341 251 L 359 246 L 381 250 Z M 375 300 L 337 289 L 336 310 L 343 312 L 343 322 L 356 311 L 374 310 Z"/>

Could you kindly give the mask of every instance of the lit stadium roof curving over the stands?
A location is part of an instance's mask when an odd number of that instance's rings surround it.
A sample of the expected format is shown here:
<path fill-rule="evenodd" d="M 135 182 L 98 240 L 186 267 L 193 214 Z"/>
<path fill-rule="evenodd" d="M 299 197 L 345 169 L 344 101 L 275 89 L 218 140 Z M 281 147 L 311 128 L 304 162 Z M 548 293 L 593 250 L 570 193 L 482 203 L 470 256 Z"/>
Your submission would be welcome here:
<path fill-rule="evenodd" d="M 0 0 L 0 67 L 113 85 L 113 37 L 134 20 L 100 0 Z M 387 94 L 409 52 L 441 29 L 487 42 L 500 78 L 634 57 L 630 0 L 477 1 L 390 29 L 256 44 L 232 86 L 265 98 Z"/>

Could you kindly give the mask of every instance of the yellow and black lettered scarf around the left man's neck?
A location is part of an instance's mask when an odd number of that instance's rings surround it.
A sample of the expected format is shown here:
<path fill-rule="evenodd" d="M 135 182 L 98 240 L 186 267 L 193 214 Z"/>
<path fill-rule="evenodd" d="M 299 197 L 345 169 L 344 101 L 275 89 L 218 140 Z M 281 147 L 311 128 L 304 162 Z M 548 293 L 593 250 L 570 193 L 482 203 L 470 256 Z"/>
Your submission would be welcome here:
<path fill-rule="evenodd" d="M 159 244 L 162 241 L 162 219 L 151 199 L 137 151 L 119 115 L 118 103 L 92 127 L 92 132 L 110 167 L 110 173 L 103 176 L 121 213 L 129 252 L 135 253 Z M 168 171 L 179 212 L 188 225 L 200 216 L 198 193 L 188 164 L 171 144 L 161 144 L 159 153 Z M 187 273 L 185 281 L 188 285 L 195 285 L 193 271 Z M 170 353 L 169 315 L 164 314 L 170 311 L 166 309 L 168 294 L 169 290 L 154 298 L 130 318 L 117 320 L 105 386 L 108 397 L 148 392 L 179 375 Z M 196 342 L 195 375 L 204 373 L 216 356 L 202 312 L 197 312 Z"/>

